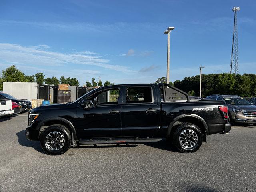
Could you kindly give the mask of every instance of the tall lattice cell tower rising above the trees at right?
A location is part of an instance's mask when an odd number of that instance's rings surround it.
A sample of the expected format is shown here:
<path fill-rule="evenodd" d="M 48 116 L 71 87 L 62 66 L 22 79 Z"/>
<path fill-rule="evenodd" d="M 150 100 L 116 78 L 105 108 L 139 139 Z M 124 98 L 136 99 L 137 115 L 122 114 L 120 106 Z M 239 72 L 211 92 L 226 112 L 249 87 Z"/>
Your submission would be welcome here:
<path fill-rule="evenodd" d="M 236 12 L 240 11 L 240 7 L 233 7 L 232 10 L 235 13 L 235 15 L 234 15 L 234 31 L 233 31 L 230 73 L 238 74 L 238 36 L 237 36 Z"/>

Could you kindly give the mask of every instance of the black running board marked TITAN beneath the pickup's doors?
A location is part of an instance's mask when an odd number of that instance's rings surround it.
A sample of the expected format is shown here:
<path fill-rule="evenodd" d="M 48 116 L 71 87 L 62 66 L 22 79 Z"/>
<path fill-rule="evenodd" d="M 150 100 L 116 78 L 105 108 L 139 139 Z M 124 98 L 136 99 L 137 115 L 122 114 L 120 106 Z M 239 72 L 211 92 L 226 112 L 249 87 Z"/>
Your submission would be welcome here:
<path fill-rule="evenodd" d="M 108 139 L 81 139 L 79 144 L 111 144 L 111 143 L 139 143 L 139 142 L 157 142 L 162 138 L 108 138 Z"/>

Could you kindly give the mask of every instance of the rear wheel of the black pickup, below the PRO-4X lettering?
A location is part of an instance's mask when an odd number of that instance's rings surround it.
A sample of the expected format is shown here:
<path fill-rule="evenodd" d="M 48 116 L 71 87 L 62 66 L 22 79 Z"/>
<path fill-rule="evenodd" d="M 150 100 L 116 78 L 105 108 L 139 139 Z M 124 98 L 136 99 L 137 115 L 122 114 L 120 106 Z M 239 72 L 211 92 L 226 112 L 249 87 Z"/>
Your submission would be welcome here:
<path fill-rule="evenodd" d="M 186 134 L 186 136 L 184 134 Z M 182 136 L 182 139 L 184 137 L 184 140 L 180 139 L 180 136 Z M 175 148 L 180 152 L 193 153 L 202 146 L 203 134 L 198 126 L 192 123 L 182 123 L 174 131 L 172 141 Z M 192 146 L 193 144 L 194 146 Z"/>

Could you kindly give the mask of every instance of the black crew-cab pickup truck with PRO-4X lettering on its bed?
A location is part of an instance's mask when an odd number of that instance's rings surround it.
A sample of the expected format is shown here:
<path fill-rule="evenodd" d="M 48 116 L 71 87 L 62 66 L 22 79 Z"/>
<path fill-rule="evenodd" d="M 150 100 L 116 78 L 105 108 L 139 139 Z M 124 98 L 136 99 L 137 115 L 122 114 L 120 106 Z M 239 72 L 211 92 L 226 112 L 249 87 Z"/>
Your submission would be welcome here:
<path fill-rule="evenodd" d="M 224 101 L 191 102 L 187 93 L 169 84 L 104 86 L 74 102 L 32 109 L 25 135 L 40 141 L 47 154 L 70 146 L 156 142 L 166 138 L 191 153 L 210 134 L 229 132 Z"/>

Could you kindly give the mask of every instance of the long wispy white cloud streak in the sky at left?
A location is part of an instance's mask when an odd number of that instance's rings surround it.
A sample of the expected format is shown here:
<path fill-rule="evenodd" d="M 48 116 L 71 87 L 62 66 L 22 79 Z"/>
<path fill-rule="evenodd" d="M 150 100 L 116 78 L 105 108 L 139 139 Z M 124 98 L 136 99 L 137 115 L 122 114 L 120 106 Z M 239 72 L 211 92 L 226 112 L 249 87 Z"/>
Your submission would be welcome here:
<path fill-rule="evenodd" d="M 129 67 L 108 64 L 110 61 L 94 52 L 52 52 L 38 46 L 21 46 L 0 43 L 0 59 L 32 66 L 67 66 L 68 64 L 92 65 L 119 72 L 134 72 Z M 44 46 L 46 47 L 46 46 Z"/>

